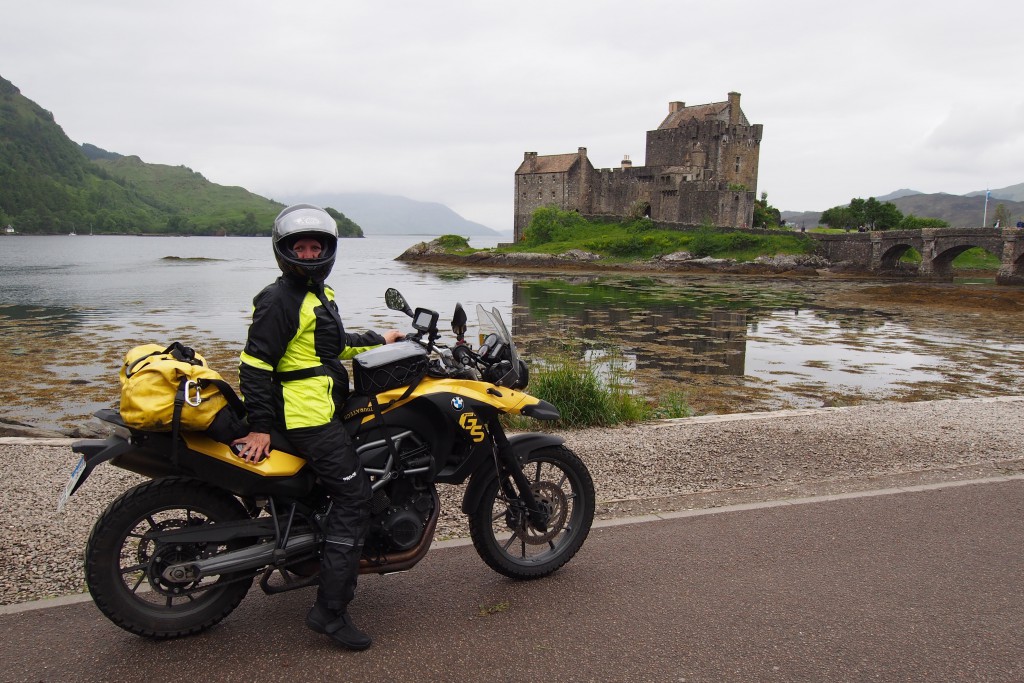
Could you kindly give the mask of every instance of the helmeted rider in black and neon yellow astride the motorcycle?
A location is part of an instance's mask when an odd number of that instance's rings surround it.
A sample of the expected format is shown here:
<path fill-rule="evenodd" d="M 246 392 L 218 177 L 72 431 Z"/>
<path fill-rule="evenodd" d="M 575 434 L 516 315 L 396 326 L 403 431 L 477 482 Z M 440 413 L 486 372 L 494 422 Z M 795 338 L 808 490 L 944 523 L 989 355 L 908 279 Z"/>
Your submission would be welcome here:
<path fill-rule="evenodd" d="M 334 290 L 325 280 L 338 253 L 338 228 L 323 209 L 297 204 L 273 222 L 273 255 L 282 276 L 253 299 L 253 318 L 239 365 L 250 432 L 236 439 L 239 457 L 258 462 L 281 429 L 309 462 L 331 497 L 325 520 L 316 602 L 306 626 L 349 648 L 370 647 L 347 607 L 355 594 L 370 518 L 370 480 L 338 413 L 348 395 L 341 360 L 397 341 L 388 330 L 345 332 Z"/>

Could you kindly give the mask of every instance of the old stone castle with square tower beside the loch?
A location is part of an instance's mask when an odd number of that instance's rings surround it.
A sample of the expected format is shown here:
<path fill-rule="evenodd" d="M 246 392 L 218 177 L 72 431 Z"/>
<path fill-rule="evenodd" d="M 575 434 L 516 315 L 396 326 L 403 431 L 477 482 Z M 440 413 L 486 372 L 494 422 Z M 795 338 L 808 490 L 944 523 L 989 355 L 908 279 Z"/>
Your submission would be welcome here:
<path fill-rule="evenodd" d="M 751 227 L 762 129 L 739 109 L 739 93 L 730 92 L 724 102 L 669 102 L 669 116 L 647 131 L 646 166 L 626 157 L 620 168 L 595 169 L 587 147 L 545 157 L 527 152 L 515 172 L 515 240 L 545 206 L 680 226 Z"/>

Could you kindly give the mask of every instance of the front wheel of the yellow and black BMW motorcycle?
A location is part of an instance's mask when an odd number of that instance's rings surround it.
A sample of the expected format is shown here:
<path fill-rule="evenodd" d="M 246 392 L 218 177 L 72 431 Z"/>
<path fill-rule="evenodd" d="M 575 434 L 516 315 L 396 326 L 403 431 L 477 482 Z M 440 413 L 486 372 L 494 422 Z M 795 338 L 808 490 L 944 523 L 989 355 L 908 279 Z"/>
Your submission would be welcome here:
<path fill-rule="evenodd" d="M 530 526 L 522 502 L 505 496 L 496 477 L 469 516 L 469 531 L 476 552 L 495 571 L 540 579 L 568 562 L 590 533 L 594 480 L 583 461 L 562 445 L 535 451 L 522 469 L 548 518 L 547 529 Z"/>

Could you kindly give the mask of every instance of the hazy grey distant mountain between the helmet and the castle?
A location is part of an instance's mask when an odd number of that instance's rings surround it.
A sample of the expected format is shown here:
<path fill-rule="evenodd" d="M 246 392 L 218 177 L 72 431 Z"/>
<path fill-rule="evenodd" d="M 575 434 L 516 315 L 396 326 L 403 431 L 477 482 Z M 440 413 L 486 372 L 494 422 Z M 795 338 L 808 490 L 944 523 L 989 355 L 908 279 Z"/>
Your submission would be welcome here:
<path fill-rule="evenodd" d="M 486 225 L 466 220 L 443 204 L 418 202 L 395 195 L 322 193 L 291 196 L 288 201 L 337 209 L 358 223 L 367 234 L 502 234 Z"/>

